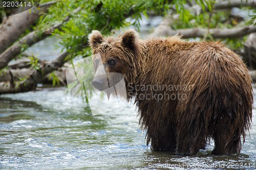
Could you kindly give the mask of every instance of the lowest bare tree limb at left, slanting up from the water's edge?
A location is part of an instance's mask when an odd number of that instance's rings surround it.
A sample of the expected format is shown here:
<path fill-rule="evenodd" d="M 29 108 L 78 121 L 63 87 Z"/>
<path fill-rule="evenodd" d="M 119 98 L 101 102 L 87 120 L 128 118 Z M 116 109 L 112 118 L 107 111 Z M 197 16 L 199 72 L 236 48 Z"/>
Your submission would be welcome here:
<path fill-rule="evenodd" d="M 34 71 L 28 79 L 18 85 L 12 82 L 0 83 L 0 94 L 26 92 L 35 89 L 36 85 L 40 83 L 46 75 L 57 70 L 65 63 L 65 59 L 69 54 L 69 52 L 65 52 L 49 63 L 42 65 L 38 70 Z"/>

